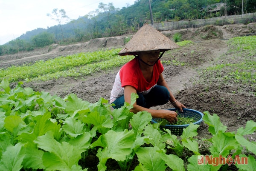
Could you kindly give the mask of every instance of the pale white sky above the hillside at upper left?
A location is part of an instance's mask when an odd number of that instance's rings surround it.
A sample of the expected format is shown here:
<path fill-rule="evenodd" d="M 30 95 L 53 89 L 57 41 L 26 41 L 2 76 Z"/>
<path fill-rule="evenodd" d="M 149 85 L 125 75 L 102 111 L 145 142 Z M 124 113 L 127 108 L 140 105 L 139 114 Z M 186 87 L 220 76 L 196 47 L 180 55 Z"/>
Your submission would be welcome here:
<path fill-rule="evenodd" d="M 70 19 L 76 20 L 98 9 L 99 3 L 113 3 L 122 9 L 136 0 L 0 0 L 0 45 L 36 28 L 58 25 L 47 13 L 64 9 Z M 64 24 L 64 23 L 63 23 Z"/>

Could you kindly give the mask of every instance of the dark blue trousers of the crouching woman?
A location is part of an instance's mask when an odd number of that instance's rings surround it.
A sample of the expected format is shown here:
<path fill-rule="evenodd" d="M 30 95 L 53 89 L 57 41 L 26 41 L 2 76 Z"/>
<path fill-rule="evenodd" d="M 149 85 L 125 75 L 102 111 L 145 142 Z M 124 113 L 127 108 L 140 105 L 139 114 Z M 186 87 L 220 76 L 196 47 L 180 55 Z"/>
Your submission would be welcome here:
<path fill-rule="evenodd" d="M 140 105 L 144 108 L 150 108 L 156 105 L 164 105 L 168 103 L 170 99 L 170 93 L 168 89 L 162 85 L 156 85 L 151 91 L 143 95 L 137 93 L 139 98 L 137 98 L 137 105 Z M 125 103 L 125 97 L 121 96 L 117 98 L 114 102 L 115 106 L 113 108 L 121 108 Z"/>

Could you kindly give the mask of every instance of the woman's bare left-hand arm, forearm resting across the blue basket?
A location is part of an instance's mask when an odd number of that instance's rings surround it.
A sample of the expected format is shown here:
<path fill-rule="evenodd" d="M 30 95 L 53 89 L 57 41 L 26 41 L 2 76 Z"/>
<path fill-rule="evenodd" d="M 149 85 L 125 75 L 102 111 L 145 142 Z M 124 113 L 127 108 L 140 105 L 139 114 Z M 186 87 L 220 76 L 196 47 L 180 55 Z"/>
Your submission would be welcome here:
<path fill-rule="evenodd" d="M 125 102 L 131 103 L 131 94 L 137 93 L 136 89 L 133 86 L 126 85 L 124 87 L 124 96 L 125 96 Z M 170 123 L 177 122 L 177 113 L 175 111 L 169 111 L 169 110 L 154 110 L 149 108 L 144 108 L 140 105 L 137 105 L 137 103 L 134 103 L 134 108 L 130 110 L 133 113 L 137 113 L 139 111 L 148 111 L 151 113 L 151 116 L 153 118 L 163 118 L 168 120 Z"/>

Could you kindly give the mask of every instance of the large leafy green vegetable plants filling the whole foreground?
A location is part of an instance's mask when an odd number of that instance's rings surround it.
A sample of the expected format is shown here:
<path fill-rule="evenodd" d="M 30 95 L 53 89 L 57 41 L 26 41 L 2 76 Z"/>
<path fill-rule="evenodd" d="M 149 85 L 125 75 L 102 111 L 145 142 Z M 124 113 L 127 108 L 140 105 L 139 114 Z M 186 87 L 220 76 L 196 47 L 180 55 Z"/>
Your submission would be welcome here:
<path fill-rule="evenodd" d="M 146 111 L 133 114 L 130 109 L 138 97 L 132 94 L 131 104 L 111 109 L 108 100 L 89 103 L 75 94 L 60 98 L 45 92 L 22 88 L 20 82 L 13 89 L 7 79 L 0 84 L 0 168 L 3 171 L 60 170 L 84 171 L 80 165 L 87 155 L 95 151 L 98 170 L 107 170 L 108 159 L 115 160 L 120 170 L 130 170 L 131 163 L 139 164 L 134 171 L 219 170 L 226 165 L 198 165 L 201 155 L 196 139 L 199 125 L 190 124 L 181 136 L 160 124 L 151 124 Z M 256 123 L 248 121 L 245 128 L 227 132 L 216 114 L 204 112 L 212 137 L 209 155 L 217 157 L 247 157 L 247 165 L 234 163 L 241 170 L 255 170 L 253 155 L 243 154 L 243 148 L 254 155 L 255 142 L 244 136 L 256 131 Z M 184 159 L 184 152 L 192 152 Z"/>

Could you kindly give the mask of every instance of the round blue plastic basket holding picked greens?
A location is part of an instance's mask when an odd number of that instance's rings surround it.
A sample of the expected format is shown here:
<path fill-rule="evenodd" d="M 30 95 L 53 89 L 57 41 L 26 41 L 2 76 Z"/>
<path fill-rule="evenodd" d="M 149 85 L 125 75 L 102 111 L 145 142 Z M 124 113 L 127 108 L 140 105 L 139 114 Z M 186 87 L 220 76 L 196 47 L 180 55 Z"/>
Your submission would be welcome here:
<path fill-rule="evenodd" d="M 189 108 L 183 108 L 183 112 L 181 112 L 177 108 L 170 108 L 167 110 L 176 111 L 178 114 L 178 117 L 193 118 L 194 120 L 196 120 L 196 122 L 194 122 L 193 124 L 196 124 L 196 125 L 200 125 L 200 123 L 203 121 L 204 114 L 200 111 L 196 111 L 196 110 L 189 109 Z M 163 120 L 164 119 L 153 118 L 152 123 L 160 123 Z M 162 129 L 162 130 L 163 130 L 163 128 L 169 129 L 172 134 L 180 136 L 183 133 L 183 129 L 188 126 L 189 126 L 189 124 L 186 124 L 186 125 L 160 125 L 160 129 Z"/>

